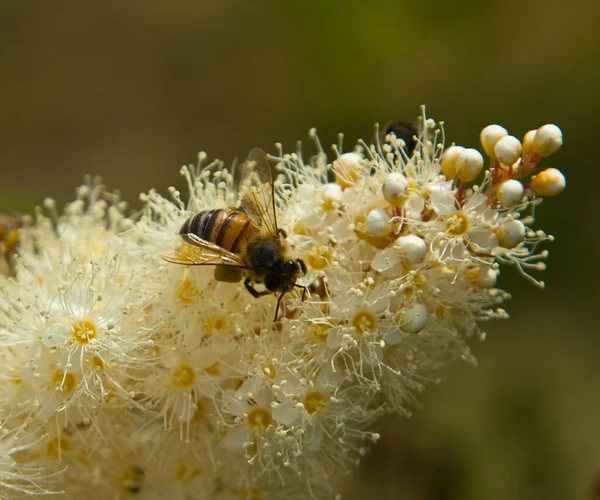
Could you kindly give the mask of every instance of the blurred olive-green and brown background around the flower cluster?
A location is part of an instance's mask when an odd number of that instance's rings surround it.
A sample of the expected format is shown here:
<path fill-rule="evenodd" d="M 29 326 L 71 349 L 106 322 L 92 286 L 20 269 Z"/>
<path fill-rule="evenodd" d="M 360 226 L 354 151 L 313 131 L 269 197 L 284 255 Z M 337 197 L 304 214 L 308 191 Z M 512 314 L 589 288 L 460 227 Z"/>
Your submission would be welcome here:
<path fill-rule="evenodd" d="M 200 149 L 231 161 L 370 138 L 419 105 L 478 147 L 544 123 L 567 176 L 539 227 L 557 237 L 540 291 L 504 272 L 509 322 L 480 366 L 456 364 L 410 420 L 390 418 L 347 498 L 576 499 L 600 481 L 600 2 L 102 1 L 0 3 L 0 206 L 72 198 L 100 174 L 137 195 L 178 183 Z"/>

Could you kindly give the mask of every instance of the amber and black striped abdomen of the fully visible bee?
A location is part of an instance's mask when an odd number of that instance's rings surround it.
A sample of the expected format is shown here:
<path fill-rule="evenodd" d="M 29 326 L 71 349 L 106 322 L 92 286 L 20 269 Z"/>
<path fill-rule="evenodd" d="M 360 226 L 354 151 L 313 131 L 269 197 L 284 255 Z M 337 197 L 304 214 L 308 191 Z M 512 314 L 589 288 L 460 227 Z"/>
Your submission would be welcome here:
<path fill-rule="evenodd" d="M 246 214 L 238 210 L 217 208 L 190 217 L 180 233 L 193 233 L 203 240 L 238 253 L 244 242 L 257 231 Z"/>

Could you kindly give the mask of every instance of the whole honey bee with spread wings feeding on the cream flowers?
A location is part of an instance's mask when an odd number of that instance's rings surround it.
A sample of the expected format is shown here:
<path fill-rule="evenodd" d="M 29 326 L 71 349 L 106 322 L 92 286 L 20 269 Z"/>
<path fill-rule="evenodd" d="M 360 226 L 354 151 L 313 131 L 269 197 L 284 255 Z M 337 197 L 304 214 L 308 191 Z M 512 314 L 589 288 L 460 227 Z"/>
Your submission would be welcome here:
<path fill-rule="evenodd" d="M 237 173 L 240 206 L 192 215 L 179 231 L 181 245 L 162 257 L 185 266 L 215 265 L 219 281 L 237 282 L 245 275 L 244 286 L 253 297 L 279 293 L 275 321 L 281 299 L 293 287 L 303 289 L 304 300 L 307 288 L 296 281 L 306 274 L 306 264 L 289 255 L 287 234 L 277 225 L 273 174 L 264 151 L 253 149 Z"/>

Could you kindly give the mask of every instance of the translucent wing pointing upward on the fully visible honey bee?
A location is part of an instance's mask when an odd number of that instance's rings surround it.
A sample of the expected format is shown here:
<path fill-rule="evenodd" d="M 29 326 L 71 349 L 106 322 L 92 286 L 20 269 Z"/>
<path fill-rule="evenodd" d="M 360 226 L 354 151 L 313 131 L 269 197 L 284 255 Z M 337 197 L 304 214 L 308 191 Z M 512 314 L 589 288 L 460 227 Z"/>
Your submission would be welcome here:
<path fill-rule="evenodd" d="M 236 172 L 235 183 L 240 193 L 241 209 L 253 219 L 255 226 L 271 236 L 277 235 L 277 212 L 275 211 L 275 189 L 273 171 L 269 159 L 260 148 L 250 151 Z"/>

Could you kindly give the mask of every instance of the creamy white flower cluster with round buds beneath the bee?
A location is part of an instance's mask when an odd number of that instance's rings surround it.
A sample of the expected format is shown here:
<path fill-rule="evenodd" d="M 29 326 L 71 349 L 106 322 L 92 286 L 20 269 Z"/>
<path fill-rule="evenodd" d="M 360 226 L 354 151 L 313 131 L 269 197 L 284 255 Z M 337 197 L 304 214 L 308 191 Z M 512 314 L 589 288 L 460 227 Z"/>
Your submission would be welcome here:
<path fill-rule="evenodd" d="M 279 147 L 278 223 L 310 293 L 276 321 L 274 295 L 161 257 L 191 215 L 239 205 L 221 163 L 201 154 L 187 201 L 152 191 L 130 217 L 91 180 L 62 215 L 48 200 L 0 276 L 0 496 L 329 498 L 376 420 L 507 316 L 499 265 L 538 283 L 550 237 L 530 209 L 565 187 L 539 170 L 554 125 L 486 127 L 483 175 L 433 120 L 416 132 L 332 163 L 314 132 L 310 161 Z"/>

